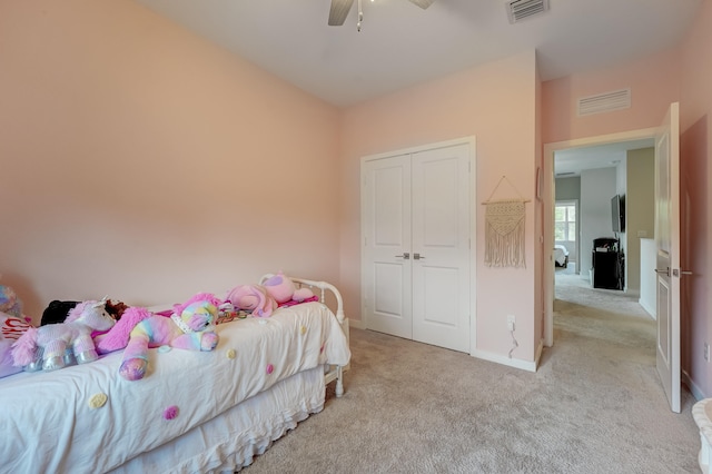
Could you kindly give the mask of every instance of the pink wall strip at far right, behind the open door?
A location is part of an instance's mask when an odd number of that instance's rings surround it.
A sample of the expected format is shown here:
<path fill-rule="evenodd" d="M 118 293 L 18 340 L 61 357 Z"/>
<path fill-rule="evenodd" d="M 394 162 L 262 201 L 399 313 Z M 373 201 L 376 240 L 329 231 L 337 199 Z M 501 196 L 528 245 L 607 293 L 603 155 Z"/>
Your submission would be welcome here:
<path fill-rule="evenodd" d="M 682 265 L 693 273 L 683 278 L 682 364 L 694 388 L 712 396 L 712 364 L 704 361 L 704 343 L 712 343 L 712 3 L 702 2 L 681 48 L 681 225 Z"/>

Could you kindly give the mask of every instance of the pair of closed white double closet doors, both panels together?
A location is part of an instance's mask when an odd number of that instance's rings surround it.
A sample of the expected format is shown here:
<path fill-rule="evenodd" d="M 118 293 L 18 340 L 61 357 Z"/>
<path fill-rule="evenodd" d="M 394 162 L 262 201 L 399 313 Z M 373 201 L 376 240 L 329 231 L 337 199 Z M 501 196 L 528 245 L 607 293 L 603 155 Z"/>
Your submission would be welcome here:
<path fill-rule="evenodd" d="M 362 168 L 366 327 L 469 352 L 467 145 Z"/>

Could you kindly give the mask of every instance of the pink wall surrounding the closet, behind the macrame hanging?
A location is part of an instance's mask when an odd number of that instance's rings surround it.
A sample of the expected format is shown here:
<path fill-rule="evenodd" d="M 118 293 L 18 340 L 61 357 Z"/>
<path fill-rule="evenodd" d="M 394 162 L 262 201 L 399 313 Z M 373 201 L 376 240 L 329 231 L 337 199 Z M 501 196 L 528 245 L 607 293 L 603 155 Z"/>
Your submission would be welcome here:
<path fill-rule="evenodd" d="M 527 199 L 534 196 L 535 56 L 531 51 L 413 87 L 352 107 L 344 113 L 342 162 L 340 285 L 348 294 L 347 314 L 359 318 L 360 209 L 359 165 L 367 155 L 476 136 L 477 347 L 506 356 L 512 339 L 506 315 L 517 316 L 520 348 L 513 357 L 533 361 L 534 346 L 534 208 L 527 206 L 527 268 L 483 265 L 484 213 L 481 206 L 506 175 Z M 516 136 L 513 136 L 516 130 Z M 513 139 L 515 138 L 515 139 Z M 503 195 L 512 197 L 506 185 Z"/>

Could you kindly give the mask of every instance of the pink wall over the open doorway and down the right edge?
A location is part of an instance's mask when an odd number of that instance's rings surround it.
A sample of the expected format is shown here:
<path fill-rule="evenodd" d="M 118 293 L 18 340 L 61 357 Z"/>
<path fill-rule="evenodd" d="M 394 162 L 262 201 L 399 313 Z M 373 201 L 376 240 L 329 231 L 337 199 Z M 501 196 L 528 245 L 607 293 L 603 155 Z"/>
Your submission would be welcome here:
<path fill-rule="evenodd" d="M 712 110 L 712 4 L 703 2 L 684 41 L 641 61 L 543 83 L 543 141 L 555 142 L 656 127 L 668 106 L 681 110 L 682 265 L 693 276 L 682 280 L 682 368 L 698 396 L 712 395 L 711 364 L 703 344 L 712 342 L 710 270 L 712 197 L 709 148 Z M 632 107 L 577 118 L 575 100 L 631 87 Z M 546 159 L 546 158 L 545 158 Z"/>

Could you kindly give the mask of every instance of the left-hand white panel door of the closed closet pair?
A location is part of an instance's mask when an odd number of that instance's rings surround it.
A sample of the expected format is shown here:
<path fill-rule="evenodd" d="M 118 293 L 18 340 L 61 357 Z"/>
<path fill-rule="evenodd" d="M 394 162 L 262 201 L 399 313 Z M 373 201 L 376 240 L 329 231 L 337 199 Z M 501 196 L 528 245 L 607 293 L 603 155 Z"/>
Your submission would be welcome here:
<path fill-rule="evenodd" d="M 364 317 L 369 329 L 412 339 L 411 156 L 366 161 L 362 175 Z"/>

